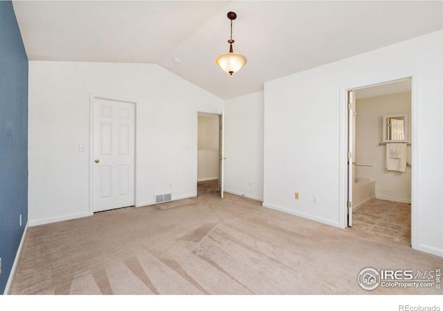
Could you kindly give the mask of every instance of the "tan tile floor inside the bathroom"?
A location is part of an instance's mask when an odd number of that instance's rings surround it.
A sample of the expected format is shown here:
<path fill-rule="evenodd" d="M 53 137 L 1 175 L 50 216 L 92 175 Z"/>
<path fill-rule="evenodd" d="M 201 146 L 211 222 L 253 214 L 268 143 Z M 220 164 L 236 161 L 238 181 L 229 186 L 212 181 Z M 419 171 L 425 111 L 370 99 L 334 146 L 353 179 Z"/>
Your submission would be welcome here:
<path fill-rule="evenodd" d="M 410 245 L 410 204 L 370 200 L 354 209 L 352 229 Z"/>

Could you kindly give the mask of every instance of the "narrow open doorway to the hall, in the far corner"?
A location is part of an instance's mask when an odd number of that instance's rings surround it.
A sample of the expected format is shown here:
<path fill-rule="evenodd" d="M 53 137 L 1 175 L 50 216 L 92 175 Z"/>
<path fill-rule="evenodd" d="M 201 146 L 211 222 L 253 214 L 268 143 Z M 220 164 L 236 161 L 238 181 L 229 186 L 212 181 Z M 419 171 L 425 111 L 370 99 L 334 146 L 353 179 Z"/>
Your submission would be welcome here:
<path fill-rule="evenodd" d="M 198 113 L 197 196 L 219 193 L 219 115 Z"/>

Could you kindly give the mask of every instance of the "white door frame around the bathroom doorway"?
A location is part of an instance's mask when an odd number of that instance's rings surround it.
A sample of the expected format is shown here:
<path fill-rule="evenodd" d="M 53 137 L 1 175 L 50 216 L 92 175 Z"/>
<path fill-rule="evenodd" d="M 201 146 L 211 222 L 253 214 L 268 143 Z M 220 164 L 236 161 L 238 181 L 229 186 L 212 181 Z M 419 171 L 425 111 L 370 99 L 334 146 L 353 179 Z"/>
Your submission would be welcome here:
<path fill-rule="evenodd" d="M 340 227 L 347 227 L 347 91 L 358 88 L 373 86 L 374 84 L 382 84 L 392 82 L 399 79 L 411 79 L 411 151 L 413 163 L 411 167 L 411 205 L 410 205 L 410 242 L 413 249 L 417 249 L 419 241 L 419 223 L 418 223 L 418 172 L 419 172 L 419 141 L 418 141 L 418 73 L 404 73 L 403 75 L 395 75 L 390 77 L 381 77 L 370 82 L 361 82 L 340 88 Z"/>

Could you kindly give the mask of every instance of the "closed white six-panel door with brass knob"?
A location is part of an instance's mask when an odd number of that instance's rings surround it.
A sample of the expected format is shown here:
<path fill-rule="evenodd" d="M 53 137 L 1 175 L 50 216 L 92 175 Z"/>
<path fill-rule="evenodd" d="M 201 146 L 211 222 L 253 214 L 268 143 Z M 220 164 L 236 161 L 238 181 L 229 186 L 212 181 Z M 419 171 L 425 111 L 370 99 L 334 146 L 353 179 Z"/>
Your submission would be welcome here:
<path fill-rule="evenodd" d="M 94 98 L 93 211 L 134 205 L 135 104 Z"/>

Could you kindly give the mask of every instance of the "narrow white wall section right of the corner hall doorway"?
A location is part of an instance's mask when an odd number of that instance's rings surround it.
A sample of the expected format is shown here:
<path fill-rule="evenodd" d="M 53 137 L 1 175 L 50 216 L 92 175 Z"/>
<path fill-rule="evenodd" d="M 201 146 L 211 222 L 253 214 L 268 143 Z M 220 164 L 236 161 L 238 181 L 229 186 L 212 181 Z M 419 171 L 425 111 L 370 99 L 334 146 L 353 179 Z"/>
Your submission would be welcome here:
<path fill-rule="evenodd" d="M 226 192 L 263 200 L 263 92 L 225 102 Z"/>

